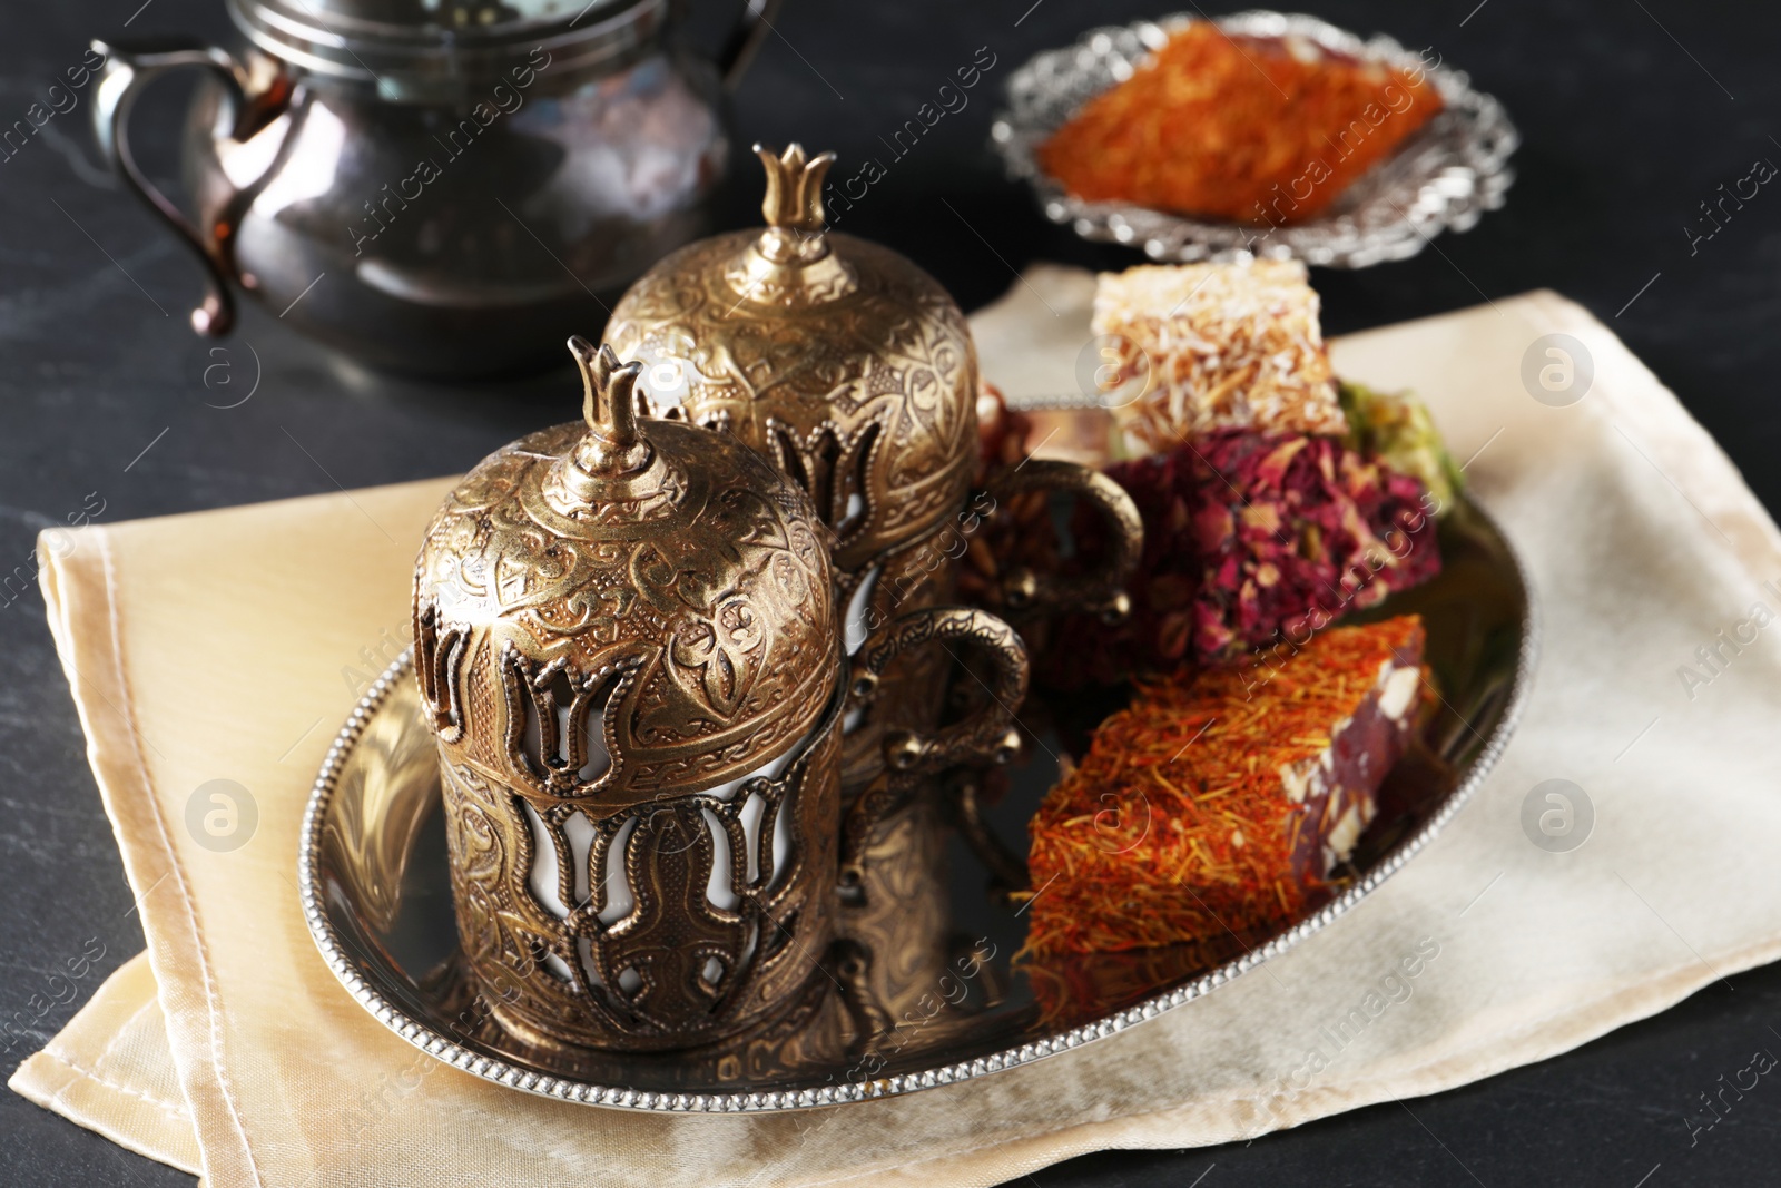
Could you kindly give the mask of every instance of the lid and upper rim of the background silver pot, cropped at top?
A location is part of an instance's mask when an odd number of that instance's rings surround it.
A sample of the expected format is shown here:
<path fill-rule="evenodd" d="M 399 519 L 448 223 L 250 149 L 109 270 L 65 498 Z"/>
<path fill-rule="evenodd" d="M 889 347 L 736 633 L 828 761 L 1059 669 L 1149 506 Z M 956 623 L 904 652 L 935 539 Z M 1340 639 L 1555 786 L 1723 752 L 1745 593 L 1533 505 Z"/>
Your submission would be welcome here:
<path fill-rule="evenodd" d="M 404 102 L 488 98 L 518 66 L 616 69 L 650 48 L 670 0 L 226 0 L 235 27 L 312 75 Z"/>

